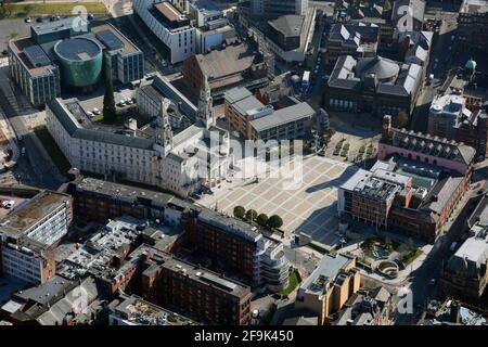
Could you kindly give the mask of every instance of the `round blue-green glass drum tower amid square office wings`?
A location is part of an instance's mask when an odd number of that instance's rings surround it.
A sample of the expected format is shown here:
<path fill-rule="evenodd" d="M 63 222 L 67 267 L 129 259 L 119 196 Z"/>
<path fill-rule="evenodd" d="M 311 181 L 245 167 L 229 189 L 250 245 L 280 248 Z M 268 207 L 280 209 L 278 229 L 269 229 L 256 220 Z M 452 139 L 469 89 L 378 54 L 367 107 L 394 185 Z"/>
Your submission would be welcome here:
<path fill-rule="evenodd" d="M 72 87 L 97 83 L 102 73 L 102 47 L 95 40 L 76 37 L 54 46 L 59 57 L 62 80 Z"/>

